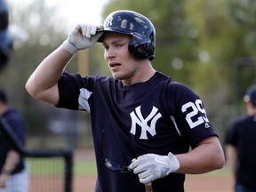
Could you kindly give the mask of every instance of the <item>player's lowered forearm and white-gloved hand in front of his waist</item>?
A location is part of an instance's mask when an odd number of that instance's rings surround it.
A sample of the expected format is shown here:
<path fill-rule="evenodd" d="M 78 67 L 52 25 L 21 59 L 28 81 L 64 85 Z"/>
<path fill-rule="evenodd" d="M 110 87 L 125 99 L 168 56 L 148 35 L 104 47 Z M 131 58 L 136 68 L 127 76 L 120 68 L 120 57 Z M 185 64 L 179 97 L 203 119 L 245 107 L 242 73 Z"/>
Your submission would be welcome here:
<path fill-rule="evenodd" d="M 222 168 L 224 154 L 217 137 L 211 136 L 185 154 L 168 156 L 146 154 L 132 161 L 130 168 L 138 174 L 141 183 L 164 178 L 172 172 L 199 174 Z"/>

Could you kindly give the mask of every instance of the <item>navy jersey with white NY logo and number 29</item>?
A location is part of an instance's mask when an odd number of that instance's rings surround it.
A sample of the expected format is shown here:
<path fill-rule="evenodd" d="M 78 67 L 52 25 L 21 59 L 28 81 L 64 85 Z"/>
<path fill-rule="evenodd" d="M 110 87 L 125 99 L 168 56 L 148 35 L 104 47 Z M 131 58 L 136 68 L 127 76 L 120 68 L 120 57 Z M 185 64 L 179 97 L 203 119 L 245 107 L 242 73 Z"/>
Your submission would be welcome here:
<path fill-rule="evenodd" d="M 199 97 L 159 72 L 147 82 L 128 86 L 111 76 L 81 77 L 65 72 L 59 92 L 57 107 L 91 113 L 97 192 L 145 191 L 137 175 L 109 171 L 100 156 L 124 166 L 143 154 L 187 153 L 200 140 L 216 136 Z M 154 192 L 181 192 L 184 180 L 184 174 L 171 173 L 153 181 Z"/>

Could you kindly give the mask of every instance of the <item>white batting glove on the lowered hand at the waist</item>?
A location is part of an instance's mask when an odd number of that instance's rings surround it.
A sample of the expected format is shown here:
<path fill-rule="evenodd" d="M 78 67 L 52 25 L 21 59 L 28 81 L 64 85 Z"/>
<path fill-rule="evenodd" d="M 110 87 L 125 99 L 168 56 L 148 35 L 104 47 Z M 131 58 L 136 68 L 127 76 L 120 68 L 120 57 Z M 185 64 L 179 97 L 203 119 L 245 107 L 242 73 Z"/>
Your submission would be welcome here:
<path fill-rule="evenodd" d="M 176 172 L 180 163 L 176 156 L 171 152 L 168 156 L 159 156 L 156 154 L 146 154 L 132 160 L 130 168 L 135 174 L 138 174 L 140 182 L 146 184 L 152 180 L 164 178 L 171 172 Z"/>

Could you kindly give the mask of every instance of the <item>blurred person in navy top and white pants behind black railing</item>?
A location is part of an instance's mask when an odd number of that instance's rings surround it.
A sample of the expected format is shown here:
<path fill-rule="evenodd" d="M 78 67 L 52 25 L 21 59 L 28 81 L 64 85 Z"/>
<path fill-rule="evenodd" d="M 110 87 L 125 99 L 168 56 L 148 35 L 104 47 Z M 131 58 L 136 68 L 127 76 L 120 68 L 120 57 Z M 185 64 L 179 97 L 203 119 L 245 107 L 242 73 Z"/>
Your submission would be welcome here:
<path fill-rule="evenodd" d="M 20 114 L 9 107 L 7 95 L 0 90 L 0 117 L 12 128 L 12 132 L 25 144 L 25 125 Z M 0 134 L 0 192 L 28 192 L 28 169 L 22 156 L 12 149 L 8 140 Z"/>

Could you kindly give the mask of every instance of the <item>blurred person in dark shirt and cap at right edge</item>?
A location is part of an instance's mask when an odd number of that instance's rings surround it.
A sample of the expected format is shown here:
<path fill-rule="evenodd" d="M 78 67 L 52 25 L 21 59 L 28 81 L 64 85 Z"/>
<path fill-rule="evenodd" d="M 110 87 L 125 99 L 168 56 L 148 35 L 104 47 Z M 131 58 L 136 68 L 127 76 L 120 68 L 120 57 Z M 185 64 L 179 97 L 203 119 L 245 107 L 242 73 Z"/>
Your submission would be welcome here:
<path fill-rule="evenodd" d="M 226 135 L 227 164 L 233 172 L 235 191 L 256 191 L 256 86 L 244 96 L 246 116 L 240 116 L 228 127 Z"/>

